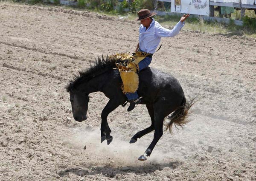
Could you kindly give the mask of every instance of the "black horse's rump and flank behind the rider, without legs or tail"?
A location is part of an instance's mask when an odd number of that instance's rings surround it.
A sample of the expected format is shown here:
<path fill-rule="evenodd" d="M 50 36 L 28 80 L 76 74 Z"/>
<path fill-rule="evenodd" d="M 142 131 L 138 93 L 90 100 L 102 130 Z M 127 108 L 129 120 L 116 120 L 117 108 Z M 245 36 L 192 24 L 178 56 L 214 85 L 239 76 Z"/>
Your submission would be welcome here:
<path fill-rule="evenodd" d="M 159 111 L 165 116 L 176 110 L 184 97 L 183 89 L 175 77 L 150 67 L 140 72 L 138 94 L 143 96 L 143 104 L 159 105 Z"/>

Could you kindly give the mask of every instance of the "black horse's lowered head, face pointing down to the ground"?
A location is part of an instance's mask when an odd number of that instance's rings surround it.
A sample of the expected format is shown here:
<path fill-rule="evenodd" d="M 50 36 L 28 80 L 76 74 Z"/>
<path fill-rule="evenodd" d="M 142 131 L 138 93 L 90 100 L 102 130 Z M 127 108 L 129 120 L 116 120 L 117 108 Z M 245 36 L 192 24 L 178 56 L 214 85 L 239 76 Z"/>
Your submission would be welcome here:
<path fill-rule="evenodd" d="M 72 106 L 73 117 L 76 121 L 82 122 L 87 119 L 87 110 L 89 96 L 83 93 L 76 93 L 73 90 L 70 92 L 70 102 Z"/>

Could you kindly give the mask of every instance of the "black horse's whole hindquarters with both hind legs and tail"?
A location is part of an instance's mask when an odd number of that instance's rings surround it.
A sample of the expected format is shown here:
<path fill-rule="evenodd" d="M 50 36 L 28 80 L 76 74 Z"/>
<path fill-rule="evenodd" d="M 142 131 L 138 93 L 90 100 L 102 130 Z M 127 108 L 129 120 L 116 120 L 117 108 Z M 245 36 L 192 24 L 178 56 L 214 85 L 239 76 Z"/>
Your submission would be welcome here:
<path fill-rule="evenodd" d="M 146 160 L 150 156 L 157 141 L 163 135 L 163 124 L 166 130 L 172 133 L 172 125 L 183 126 L 188 122 L 187 115 L 193 101 L 186 102 L 186 98 L 177 79 L 169 74 L 165 74 L 153 68 L 145 68 L 140 72 L 139 96 L 143 97 L 142 104 L 145 104 L 151 117 L 151 126 L 136 133 L 130 143 L 134 143 L 138 138 L 154 130 L 154 139 L 140 156 L 139 160 Z M 172 113 L 171 116 L 168 116 Z M 167 121 L 164 119 L 167 116 Z"/>

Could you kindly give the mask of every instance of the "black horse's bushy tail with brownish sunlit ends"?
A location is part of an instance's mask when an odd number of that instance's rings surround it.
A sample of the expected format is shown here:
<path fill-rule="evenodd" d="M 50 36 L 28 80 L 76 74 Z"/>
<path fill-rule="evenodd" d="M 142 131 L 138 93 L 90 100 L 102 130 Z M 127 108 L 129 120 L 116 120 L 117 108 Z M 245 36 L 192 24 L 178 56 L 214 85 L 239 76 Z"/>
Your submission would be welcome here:
<path fill-rule="evenodd" d="M 166 126 L 165 130 L 170 131 L 171 134 L 172 132 L 172 125 L 173 123 L 175 124 L 175 127 L 177 128 L 177 125 L 180 127 L 183 127 L 185 124 L 189 122 L 187 119 L 190 111 L 189 109 L 192 107 L 192 105 L 195 104 L 194 102 L 195 98 L 191 99 L 190 101 L 186 101 L 185 96 L 183 96 L 183 100 L 181 102 L 181 105 L 177 107 L 177 109 L 172 113 L 171 116 L 167 116 L 167 120 L 165 120 L 164 125 Z"/>

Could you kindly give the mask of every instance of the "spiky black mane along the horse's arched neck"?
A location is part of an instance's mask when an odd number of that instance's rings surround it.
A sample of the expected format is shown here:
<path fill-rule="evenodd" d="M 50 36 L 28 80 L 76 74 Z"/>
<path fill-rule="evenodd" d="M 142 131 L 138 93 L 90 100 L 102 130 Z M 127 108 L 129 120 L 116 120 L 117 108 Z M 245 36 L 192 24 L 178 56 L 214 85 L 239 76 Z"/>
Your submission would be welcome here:
<path fill-rule="evenodd" d="M 74 75 L 73 80 L 70 80 L 69 84 L 66 86 L 67 92 L 71 90 L 71 88 L 76 87 L 81 82 L 87 81 L 97 75 L 103 74 L 106 71 L 109 71 L 113 69 L 116 66 L 116 62 L 118 62 L 117 57 L 113 56 L 106 56 L 106 59 L 104 59 L 103 55 L 102 57 L 98 57 L 96 59 L 94 65 L 90 65 L 90 68 L 87 70 L 79 71 L 78 75 Z"/>

